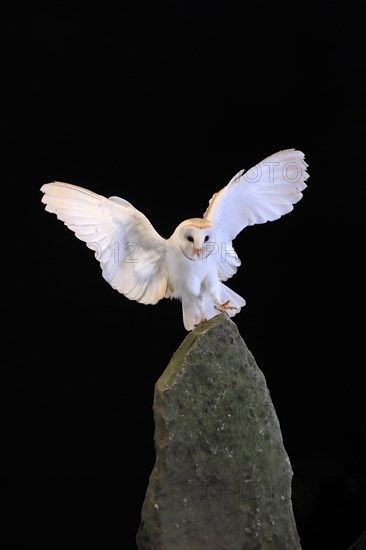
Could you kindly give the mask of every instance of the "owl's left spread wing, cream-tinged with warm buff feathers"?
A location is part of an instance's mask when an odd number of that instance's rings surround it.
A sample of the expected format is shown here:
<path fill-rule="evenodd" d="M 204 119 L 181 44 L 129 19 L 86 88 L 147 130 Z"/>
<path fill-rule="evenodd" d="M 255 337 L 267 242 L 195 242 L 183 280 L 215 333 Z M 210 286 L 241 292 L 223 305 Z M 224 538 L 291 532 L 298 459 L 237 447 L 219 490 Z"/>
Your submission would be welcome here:
<path fill-rule="evenodd" d="M 47 183 L 41 191 L 47 212 L 95 251 L 113 288 L 143 304 L 165 297 L 167 242 L 146 216 L 124 199 L 107 199 L 68 183 Z"/>

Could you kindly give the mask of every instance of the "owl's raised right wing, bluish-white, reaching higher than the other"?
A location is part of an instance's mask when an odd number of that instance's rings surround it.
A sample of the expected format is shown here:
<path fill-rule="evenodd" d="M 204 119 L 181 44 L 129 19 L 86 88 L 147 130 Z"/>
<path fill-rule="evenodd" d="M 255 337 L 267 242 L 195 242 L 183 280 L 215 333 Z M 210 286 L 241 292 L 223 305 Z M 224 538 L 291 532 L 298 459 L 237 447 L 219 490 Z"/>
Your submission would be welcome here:
<path fill-rule="evenodd" d="M 214 223 L 217 239 L 226 246 L 227 261 L 217 255 L 219 277 L 226 280 L 240 265 L 232 241 L 245 227 L 277 220 L 302 198 L 307 166 L 301 151 L 279 151 L 248 172 L 241 170 L 213 195 L 203 217 Z"/>

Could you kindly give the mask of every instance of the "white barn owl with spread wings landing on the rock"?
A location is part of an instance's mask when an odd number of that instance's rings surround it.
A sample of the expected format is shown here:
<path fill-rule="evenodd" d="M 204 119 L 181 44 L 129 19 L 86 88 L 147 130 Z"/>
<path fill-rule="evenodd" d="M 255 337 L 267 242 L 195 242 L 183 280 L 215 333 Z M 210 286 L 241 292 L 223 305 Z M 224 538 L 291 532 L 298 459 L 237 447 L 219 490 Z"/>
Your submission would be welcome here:
<path fill-rule="evenodd" d="M 307 166 L 301 151 L 287 149 L 241 170 L 212 196 L 202 218 L 183 221 L 168 239 L 120 197 L 55 181 L 41 187 L 42 202 L 94 250 L 114 289 L 142 304 L 179 299 L 190 331 L 245 305 L 224 284 L 240 266 L 232 241 L 245 227 L 290 212 L 306 188 Z"/>

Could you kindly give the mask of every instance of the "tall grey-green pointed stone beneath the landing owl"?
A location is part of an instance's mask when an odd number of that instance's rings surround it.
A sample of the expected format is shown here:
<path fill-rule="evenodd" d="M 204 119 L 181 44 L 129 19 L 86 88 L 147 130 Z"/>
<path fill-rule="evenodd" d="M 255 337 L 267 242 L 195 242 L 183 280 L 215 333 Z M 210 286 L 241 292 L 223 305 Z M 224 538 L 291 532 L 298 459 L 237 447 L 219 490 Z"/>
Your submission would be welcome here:
<path fill-rule="evenodd" d="M 155 385 L 156 463 L 139 550 L 300 550 L 292 469 L 265 378 L 225 314 Z"/>

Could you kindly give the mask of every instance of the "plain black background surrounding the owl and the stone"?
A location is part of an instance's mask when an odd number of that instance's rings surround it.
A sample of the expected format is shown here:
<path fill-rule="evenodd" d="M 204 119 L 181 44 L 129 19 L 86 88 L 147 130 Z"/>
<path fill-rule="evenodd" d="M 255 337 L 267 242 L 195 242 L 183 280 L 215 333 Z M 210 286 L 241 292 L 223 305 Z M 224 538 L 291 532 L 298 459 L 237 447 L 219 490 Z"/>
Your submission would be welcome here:
<path fill-rule="evenodd" d="M 3 23 L 3 548 L 135 548 L 154 383 L 186 335 L 177 301 L 109 287 L 41 185 L 122 196 L 168 237 L 238 170 L 295 147 L 304 197 L 236 239 L 230 286 L 294 469 L 303 550 L 346 549 L 366 526 L 360 14 L 53 2 Z"/>

